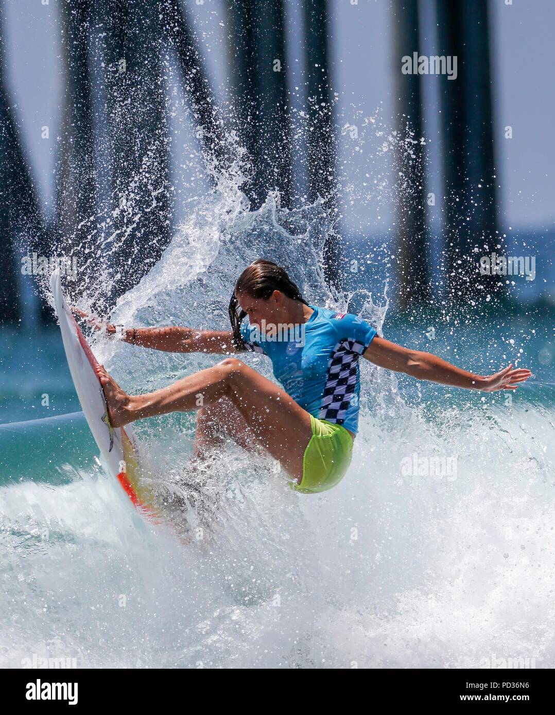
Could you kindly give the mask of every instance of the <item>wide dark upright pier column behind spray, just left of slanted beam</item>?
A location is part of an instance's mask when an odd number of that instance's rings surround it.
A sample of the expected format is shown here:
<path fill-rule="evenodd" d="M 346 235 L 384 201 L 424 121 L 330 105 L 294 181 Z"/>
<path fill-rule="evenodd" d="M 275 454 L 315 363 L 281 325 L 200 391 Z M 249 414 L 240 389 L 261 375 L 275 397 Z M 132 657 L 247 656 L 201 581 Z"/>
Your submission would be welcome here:
<path fill-rule="evenodd" d="M 110 222 L 102 254 L 122 295 L 159 260 L 171 238 L 167 88 L 159 0 L 97 0 L 102 41 Z"/>

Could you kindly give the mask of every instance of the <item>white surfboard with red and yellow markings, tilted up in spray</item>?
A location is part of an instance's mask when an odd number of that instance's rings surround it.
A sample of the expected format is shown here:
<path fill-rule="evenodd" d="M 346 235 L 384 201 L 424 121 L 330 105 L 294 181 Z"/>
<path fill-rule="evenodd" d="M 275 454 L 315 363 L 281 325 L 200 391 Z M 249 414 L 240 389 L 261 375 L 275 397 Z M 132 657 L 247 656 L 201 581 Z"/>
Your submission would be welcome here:
<path fill-rule="evenodd" d="M 69 373 L 105 468 L 139 511 L 157 519 L 154 495 L 142 478 L 137 439 L 130 425 L 114 428 L 110 424 L 104 390 L 95 372 L 99 363 L 64 299 L 59 269 L 51 275 L 50 290 L 54 295 Z"/>

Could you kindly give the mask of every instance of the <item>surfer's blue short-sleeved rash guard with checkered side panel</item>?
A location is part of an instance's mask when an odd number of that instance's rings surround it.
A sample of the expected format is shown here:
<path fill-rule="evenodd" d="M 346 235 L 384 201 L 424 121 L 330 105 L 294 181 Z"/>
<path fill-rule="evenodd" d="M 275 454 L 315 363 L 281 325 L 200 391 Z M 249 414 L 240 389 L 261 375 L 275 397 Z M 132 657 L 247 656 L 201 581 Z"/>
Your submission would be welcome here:
<path fill-rule="evenodd" d="M 271 339 L 269 332 L 261 333 L 248 323 L 241 325 L 242 338 L 247 350 L 261 352 L 272 360 L 276 380 L 310 415 L 343 425 L 356 434 L 358 358 L 376 331 L 357 315 L 309 307 L 314 312 L 308 322 L 298 325 L 295 334 L 286 331 L 285 339 L 284 335 Z"/>

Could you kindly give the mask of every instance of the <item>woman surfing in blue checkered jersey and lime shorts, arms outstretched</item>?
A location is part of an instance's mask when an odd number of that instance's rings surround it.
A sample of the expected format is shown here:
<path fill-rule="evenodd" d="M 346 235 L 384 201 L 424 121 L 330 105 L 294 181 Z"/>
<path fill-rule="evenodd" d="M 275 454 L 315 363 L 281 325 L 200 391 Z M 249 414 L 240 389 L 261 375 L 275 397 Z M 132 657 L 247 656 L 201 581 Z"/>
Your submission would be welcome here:
<path fill-rule="evenodd" d="M 295 489 L 315 493 L 336 485 L 350 464 L 358 431 L 360 358 L 419 380 L 483 392 L 516 390 L 531 375 L 512 365 L 495 375 L 474 375 L 429 352 L 396 345 L 356 315 L 308 305 L 287 272 L 267 260 L 256 260 L 242 272 L 229 314 L 231 330 L 121 329 L 122 339 L 132 345 L 228 357 L 144 395 L 128 395 L 99 366 L 112 425 L 197 410 L 197 455 L 228 435 L 247 450 L 270 453 Z M 109 334 L 119 332 L 117 326 L 91 322 Z M 236 357 L 245 351 L 267 355 L 281 386 Z"/>

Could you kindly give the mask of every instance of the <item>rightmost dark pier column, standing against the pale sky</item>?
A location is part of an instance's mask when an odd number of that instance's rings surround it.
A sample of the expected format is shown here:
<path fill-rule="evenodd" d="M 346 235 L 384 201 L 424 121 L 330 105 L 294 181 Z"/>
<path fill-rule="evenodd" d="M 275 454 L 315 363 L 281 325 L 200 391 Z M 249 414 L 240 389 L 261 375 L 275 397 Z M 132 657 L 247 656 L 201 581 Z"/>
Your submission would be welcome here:
<path fill-rule="evenodd" d="M 504 292 L 503 277 L 478 272 L 483 244 L 491 250 L 500 242 L 495 235 L 488 2 L 438 0 L 436 9 L 438 55 L 457 57 L 457 78 L 440 79 L 448 297 L 481 302 Z"/>

